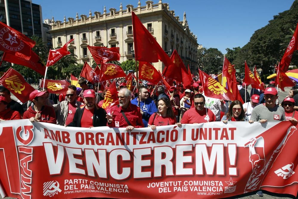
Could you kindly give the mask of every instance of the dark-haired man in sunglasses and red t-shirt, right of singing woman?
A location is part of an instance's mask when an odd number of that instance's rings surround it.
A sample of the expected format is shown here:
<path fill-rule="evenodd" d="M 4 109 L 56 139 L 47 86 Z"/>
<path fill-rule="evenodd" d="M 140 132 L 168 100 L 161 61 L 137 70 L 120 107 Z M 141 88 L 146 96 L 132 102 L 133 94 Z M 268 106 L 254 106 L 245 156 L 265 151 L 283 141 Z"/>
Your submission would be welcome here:
<path fill-rule="evenodd" d="M 205 97 L 201 93 L 195 94 L 193 98 L 194 108 L 188 109 L 182 119 L 182 124 L 200 124 L 205 122 L 214 122 L 216 117 L 214 113 L 205 107 Z"/>

